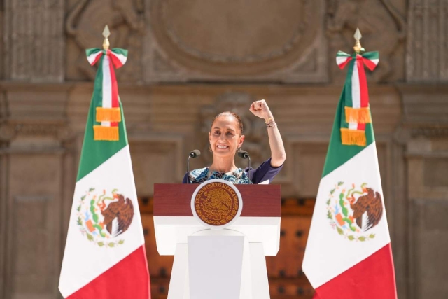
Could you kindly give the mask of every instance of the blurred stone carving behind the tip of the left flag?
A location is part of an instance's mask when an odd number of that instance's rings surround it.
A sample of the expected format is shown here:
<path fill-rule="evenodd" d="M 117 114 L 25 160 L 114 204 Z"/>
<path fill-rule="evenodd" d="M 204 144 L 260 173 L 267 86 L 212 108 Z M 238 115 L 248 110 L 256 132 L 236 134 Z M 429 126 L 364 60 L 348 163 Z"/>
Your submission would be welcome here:
<path fill-rule="evenodd" d="M 136 5 L 134 5 L 134 2 Z M 102 32 L 109 26 L 111 47 L 130 51 L 126 68 L 117 71 L 120 81 L 141 80 L 141 36 L 144 33 L 144 2 L 80 0 L 66 18 L 66 32 L 80 50 L 76 67 L 84 78 L 94 79 L 95 69 L 85 59 L 86 48 L 101 47 Z M 76 57 L 73 57 L 76 59 Z"/>

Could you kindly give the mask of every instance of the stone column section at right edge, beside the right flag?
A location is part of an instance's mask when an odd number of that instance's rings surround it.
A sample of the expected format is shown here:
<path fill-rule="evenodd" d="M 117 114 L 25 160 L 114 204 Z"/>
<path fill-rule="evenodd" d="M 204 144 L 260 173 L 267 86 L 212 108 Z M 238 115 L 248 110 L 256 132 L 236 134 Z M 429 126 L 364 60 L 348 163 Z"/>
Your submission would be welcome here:
<path fill-rule="evenodd" d="M 407 240 L 395 251 L 398 277 L 407 280 L 405 298 L 443 298 L 448 293 L 448 88 L 407 85 L 400 90 L 407 169 L 400 235 Z"/>

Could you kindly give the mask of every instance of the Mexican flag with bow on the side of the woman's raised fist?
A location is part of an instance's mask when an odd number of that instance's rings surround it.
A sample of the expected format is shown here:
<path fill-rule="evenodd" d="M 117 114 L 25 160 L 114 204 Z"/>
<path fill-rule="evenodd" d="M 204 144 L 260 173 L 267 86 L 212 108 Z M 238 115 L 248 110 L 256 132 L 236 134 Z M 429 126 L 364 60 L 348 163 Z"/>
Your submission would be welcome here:
<path fill-rule="evenodd" d="M 337 53 L 348 66 L 302 269 L 320 299 L 397 298 L 364 66 L 378 53 Z"/>

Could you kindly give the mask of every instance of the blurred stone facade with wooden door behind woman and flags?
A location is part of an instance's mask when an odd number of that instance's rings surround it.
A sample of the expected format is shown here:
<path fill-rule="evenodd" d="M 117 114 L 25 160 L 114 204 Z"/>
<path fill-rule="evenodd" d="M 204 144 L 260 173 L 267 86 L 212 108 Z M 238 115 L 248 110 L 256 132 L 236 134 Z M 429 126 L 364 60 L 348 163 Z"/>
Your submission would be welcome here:
<path fill-rule="evenodd" d="M 96 71 L 84 50 L 106 24 L 111 47 L 129 50 L 117 76 L 153 299 L 167 298 L 173 261 L 155 248 L 153 184 L 180 183 L 194 148 L 192 168 L 210 162 L 225 110 L 243 118 L 253 164 L 268 158 L 255 99 L 288 156 L 271 296 L 312 297 L 301 265 L 346 76 L 335 55 L 351 53 L 356 27 L 380 55 L 366 72 L 399 298 L 447 298 L 447 16 L 447 0 L 0 0 L 0 298 L 60 298 Z"/>

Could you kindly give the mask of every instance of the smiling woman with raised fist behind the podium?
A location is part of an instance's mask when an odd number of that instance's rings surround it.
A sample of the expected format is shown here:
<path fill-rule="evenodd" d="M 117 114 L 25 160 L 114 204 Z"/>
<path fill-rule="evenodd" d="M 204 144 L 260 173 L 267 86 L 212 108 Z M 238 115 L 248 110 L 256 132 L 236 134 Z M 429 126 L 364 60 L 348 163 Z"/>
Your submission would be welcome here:
<path fill-rule="evenodd" d="M 209 151 L 213 153 L 211 166 L 195 169 L 183 177 L 183 183 L 203 183 L 209 179 L 223 179 L 230 183 L 270 182 L 278 174 L 286 159 L 285 148 L 274 116 L 264 99 L 255 101 L 249 109 L 266 123 L 271 157 L 257 169 L 235 166 L 235 154 L 244 143 L 243 123 L 237 114 L 226 111 L 213 120 L 209 132 Z"/>

